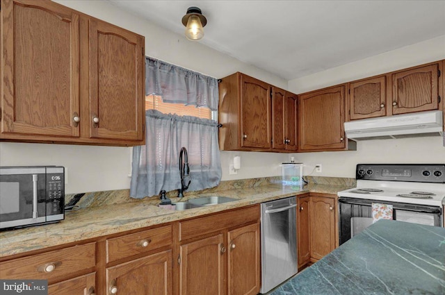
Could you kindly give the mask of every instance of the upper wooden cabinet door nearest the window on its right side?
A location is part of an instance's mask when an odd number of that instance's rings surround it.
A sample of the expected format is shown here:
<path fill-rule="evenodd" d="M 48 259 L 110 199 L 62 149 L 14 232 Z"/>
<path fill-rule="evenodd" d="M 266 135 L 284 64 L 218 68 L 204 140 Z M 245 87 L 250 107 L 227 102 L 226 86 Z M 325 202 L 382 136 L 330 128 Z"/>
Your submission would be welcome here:
<path fill-rule="evenodd" d="M 270 85 L 241 75 L 241 147 L 269 149 Z"/>

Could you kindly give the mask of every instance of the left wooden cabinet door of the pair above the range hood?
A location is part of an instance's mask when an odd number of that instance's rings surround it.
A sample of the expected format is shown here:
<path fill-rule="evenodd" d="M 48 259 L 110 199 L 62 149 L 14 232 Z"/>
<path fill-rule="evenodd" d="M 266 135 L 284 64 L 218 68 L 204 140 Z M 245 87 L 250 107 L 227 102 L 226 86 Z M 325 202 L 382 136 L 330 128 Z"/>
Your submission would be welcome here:
<path fill-rule="evenodd" d="M 386 76 L 350 83 L 350 119 L 386 116 L 386 89 Z"/>

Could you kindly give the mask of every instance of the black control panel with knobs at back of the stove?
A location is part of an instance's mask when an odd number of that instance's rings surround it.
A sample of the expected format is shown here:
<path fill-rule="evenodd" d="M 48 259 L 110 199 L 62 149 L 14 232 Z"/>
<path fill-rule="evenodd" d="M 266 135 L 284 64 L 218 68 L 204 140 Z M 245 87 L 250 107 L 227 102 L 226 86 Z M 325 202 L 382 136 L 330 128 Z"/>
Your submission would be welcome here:
<path fill-rule="evenodd" d="M 358 164 L 357 180 L 445 183 L 445 164 Z"/>

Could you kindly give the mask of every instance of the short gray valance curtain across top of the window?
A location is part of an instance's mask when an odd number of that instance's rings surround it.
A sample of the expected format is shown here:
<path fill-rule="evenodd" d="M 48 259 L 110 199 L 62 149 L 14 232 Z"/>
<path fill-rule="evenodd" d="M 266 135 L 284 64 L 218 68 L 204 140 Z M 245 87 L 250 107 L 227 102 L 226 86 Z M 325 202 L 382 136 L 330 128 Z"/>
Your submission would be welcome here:
<path fill-rule="evenodd" d="M 195 71 L 145 57 L 146 95 L 162 96 L 165 103 L 184 103 L 218 110 L 218 81 Z"/>

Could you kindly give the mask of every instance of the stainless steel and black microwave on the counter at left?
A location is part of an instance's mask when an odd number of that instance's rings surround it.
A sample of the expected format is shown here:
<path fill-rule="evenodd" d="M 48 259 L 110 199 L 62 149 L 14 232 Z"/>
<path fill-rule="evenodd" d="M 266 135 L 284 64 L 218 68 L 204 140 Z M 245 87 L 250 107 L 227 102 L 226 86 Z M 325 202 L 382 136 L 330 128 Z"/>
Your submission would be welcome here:
<path fill-rule="evenodd" d="M 0 167 L 0 228 L 65 219 L 65 168 Z"/>

